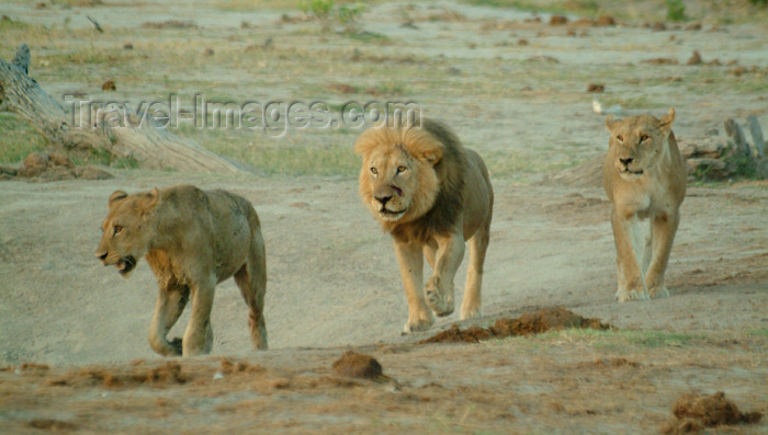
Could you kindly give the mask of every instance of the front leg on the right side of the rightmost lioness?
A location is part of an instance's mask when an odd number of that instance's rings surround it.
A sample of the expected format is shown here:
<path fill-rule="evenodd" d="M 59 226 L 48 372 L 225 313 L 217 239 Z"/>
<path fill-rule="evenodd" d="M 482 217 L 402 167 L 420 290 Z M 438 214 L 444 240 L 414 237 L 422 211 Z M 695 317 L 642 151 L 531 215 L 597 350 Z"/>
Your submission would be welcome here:
<path fill-rule="evenodd" d="M 645 275 L 645 283 L 648 287 L 648 296 L 652 298 L 666 298 L 669 290 L 664 285 L 664 273 L 667 270 L 669 252 L 675 241 L 675 232 L 679 224 L 679 214 L 658 215 L 651 222 L 653 232 L 653 256 L 651 265 Z"/>

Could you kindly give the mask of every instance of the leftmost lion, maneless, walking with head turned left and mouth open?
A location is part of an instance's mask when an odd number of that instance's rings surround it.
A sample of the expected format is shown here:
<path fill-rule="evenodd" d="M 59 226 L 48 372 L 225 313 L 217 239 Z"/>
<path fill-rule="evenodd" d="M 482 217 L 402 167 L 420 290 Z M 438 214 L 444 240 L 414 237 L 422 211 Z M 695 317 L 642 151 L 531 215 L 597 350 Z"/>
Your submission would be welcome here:
<path fill-rule="evenodd" d="M 259 217 L 245 198 L 191 185 L 128 195 L 116 191 L 101 225 L 95 255 L 127 277 L 142 256 L 157 278 L 159 294 L 149 344 L 160 355 L 210 353 L 211 307 L 216 284 L 235 276 L 250 309 L 253 346 L 267 348 L 262 313 L 267 286 L 264 242 Z M 192 316 L 183 340 L 166 340 L 187 302 Z"/>

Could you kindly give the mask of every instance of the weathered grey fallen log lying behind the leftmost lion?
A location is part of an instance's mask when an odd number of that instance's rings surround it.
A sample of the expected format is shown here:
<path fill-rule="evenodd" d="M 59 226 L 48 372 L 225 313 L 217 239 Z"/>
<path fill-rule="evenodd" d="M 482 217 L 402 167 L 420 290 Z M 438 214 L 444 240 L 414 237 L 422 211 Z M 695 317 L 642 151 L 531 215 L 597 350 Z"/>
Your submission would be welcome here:
<path fill-rule="evenodd" d="M 14 112 L 65 150 L 106 150 L 115 157 L 131 156 L 153 169 L 236 173 L 237 162 L 206 150 L 192 139 L 157 128 L 153 123 L 118 126 L 110 117 L 95 125 L 70 125 L 72 113 L 48 95 L 29 76 L 30 48 L 22 44 L 11 62 L 0 59 L 0 111 Z"/>

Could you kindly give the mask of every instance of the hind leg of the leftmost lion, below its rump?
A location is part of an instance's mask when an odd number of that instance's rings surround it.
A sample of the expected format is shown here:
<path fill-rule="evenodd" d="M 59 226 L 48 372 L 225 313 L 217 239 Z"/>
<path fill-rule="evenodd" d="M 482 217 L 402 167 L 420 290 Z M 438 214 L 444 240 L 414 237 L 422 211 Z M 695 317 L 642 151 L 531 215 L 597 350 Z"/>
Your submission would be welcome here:
<path fill-rule="evenodd" d="M 264 294 L 267 293 L 267 266 L 261 238 L 251 243 L 248 261 L 235 273 L 235 283 L 248 306 L 250 339 L 257 350 L 267 350 L 267 324 L 264 322 Z"/>

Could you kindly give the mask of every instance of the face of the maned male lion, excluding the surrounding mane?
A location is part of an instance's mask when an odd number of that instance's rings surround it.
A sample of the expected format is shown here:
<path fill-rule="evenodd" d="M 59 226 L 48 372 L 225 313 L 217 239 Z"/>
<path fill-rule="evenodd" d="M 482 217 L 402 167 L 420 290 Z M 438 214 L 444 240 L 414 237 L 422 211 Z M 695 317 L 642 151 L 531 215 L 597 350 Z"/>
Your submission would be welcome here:
<path fill-rule="evenodd" d="M 420 171 L 432 172 L 431 167 L 408 154 L 402 147 L 373 150 L 363 162 L 371 191 L 369 206 L 382 220 L 397 221 L 408 214 L 418 190 Z"/>

